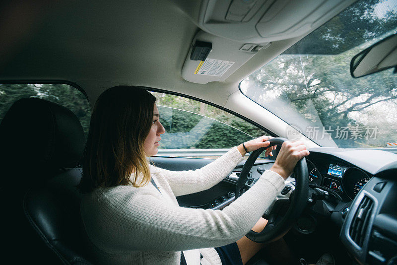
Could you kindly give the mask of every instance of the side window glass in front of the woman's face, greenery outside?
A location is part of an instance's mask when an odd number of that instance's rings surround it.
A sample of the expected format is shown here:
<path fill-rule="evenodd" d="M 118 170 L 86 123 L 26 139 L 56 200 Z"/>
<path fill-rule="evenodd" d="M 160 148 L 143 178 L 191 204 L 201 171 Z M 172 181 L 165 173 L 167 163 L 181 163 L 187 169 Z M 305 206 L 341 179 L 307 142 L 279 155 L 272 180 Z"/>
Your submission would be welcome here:
<path fill-rule="evenodd" d="M 252 124 L 196 100 L 151 92 L 166 133 L 160 156 L 216 158 L 244 141 L 264 134 Z"/>

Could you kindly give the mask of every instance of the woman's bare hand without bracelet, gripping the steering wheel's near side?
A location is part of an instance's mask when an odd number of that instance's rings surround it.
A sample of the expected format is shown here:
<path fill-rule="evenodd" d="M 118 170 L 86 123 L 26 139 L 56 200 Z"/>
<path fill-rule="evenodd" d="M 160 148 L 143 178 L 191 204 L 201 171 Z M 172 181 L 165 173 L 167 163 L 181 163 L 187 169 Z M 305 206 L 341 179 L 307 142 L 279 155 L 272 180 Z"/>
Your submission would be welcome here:
<path fill-rule="evenodd" d="M 278 173 L 283 179 L 287 179 L 296 163 L 304 156 L 309 155 L 306 146 L 301 141 L 285 141 L 281 145 L 276 161 L 270 168 L 271 171 Z"/>

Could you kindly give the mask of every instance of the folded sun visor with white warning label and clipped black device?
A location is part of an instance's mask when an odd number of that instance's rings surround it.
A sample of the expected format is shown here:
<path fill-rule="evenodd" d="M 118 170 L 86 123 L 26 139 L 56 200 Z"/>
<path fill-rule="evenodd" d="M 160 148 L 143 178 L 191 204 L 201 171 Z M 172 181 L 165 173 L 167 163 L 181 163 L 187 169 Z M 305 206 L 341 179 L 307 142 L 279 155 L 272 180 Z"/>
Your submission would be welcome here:
<path fill-rule="evenodd" d="M 270 43 L 241 43 L 199 31 L 182 68 L 182 77 L 192 83 L 224 81 Z"/>

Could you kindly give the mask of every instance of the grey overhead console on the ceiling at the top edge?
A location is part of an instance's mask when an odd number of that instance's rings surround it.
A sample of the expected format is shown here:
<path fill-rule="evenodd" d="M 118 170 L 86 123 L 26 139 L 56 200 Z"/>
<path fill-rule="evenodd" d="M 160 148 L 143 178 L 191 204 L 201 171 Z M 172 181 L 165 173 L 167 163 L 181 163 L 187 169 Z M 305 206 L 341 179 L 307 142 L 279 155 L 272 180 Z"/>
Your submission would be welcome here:
<path fill-rule="evenodd" d="M 217 36 L 265 43 L 304 36 L 355 0 L 204 0 L 199 26 Z"/>

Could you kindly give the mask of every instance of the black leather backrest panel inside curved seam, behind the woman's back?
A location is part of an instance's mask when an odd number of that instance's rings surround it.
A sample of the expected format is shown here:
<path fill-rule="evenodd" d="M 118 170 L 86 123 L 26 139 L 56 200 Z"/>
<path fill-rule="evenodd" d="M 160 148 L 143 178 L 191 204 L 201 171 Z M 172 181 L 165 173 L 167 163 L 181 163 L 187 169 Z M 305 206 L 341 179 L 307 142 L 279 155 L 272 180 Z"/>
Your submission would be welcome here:
<path fill-rule="evenodd" d="M 76 188 L 81 174 L 81 168 L 64 169 L 30 189 L 23 201 L 28 221 L 64 264 L 90 264 L 84 254 L 81 194 Z"/>

